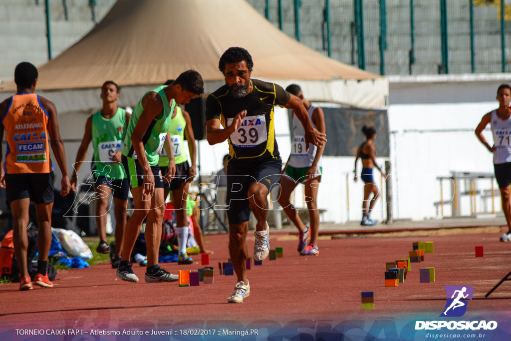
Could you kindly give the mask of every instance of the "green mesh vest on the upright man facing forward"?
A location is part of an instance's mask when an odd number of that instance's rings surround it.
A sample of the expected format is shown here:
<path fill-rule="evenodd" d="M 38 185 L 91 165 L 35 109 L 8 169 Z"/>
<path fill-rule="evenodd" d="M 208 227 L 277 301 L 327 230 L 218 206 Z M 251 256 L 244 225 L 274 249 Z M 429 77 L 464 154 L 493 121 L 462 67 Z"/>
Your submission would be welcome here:
<path fill-rule="evenodd" d="M 98 111 L 92 116 L 92 147 L 95 175 L 111 179 L 125 179 L 126 172 L 121 163 L 112 162 L 110 157 L 120 151 L 123 145 L 123 131 L 126 125 L 126 111 L 118 108 L 110 119 L 105 119 Z"/>

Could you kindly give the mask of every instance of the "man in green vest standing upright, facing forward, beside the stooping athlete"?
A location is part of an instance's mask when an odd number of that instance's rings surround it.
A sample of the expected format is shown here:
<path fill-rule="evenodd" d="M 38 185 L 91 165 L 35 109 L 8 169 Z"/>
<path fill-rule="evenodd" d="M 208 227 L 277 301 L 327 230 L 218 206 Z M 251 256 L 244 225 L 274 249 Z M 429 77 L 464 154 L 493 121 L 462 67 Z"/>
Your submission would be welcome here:
<path fill-rule="evenodd" d="M 129 195 L 129 182 L 121 164 L 121 146 L 123 132 L 129 122 L 130 115 L 117 105 L 119 87 L 113 81 L 106 81 L 101 87 L 103 108 L 91 115 L 85 123 L 85 133 L 76 154 L 71 185 L 77 189 L 78 171 L 87 155 L 89 143 L 92 141 L 94 155 L 92 156 L 92 178 L 94 181 L 94 197 L 96 201 L 96 224 L 100 243 L 96 251 L 107 254 L 109 247 L 106 242 L 106 214 L 108 197 L 113 192 L 115 213 L 115 257 L 112 267 L 121 261 L 123 251 L 124 226 L 126 225 L 126 204 Z"/>

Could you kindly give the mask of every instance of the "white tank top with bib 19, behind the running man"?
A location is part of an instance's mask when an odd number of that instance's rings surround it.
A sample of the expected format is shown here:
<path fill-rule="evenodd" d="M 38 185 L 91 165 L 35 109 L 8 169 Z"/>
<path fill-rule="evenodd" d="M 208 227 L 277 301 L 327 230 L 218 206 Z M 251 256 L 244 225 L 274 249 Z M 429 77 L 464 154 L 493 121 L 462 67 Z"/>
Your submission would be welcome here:
<path fill-rule="evenodd" d="M 311 105 L 307 113 L 312 123 L 312 113 L 316 107 Z M 312 126 L 316 128 L 316 125 L 312 123 Z M 309 151 L 305 148 L 305 129 L 301 125 L 300 120 L 293 113 L 293 138 L 291 139 L 291 158 L 289 160 L 289 166 L 295 168 L 311 167 L 316 156 L 317 147 L 312 143 L 309 143 Z M 318 162 L 318 167 L 321 166 L 321 158 Z"/>

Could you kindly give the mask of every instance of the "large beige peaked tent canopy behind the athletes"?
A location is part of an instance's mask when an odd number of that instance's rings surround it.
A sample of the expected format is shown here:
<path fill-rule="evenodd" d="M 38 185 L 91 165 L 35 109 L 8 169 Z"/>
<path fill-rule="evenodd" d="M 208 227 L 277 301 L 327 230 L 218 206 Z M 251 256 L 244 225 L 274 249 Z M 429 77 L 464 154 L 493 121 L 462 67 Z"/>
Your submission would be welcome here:
<path fill-rule="evenodd" d="M 147 85 L 195 69 L 212 92 L 223 83 L 218 60 L 231 46 L 250 52 L 254 78 L 283 86 L 295 81 L 317 101 L 385 104 L 385 78 L 314 52 L 243 0 L 119 0 L 86 36 L 39 68 L 37 90 L 43 96 L 41 90 L 61 90 L 63 99 L 48 96 L 60 113 L 76 112 L 91 102 L 97 108 L 98 87 L 113 80 L 125 86 L 121 104 L 133 105 Z M 8 83 L 3 90 L 15 86 Z"/>

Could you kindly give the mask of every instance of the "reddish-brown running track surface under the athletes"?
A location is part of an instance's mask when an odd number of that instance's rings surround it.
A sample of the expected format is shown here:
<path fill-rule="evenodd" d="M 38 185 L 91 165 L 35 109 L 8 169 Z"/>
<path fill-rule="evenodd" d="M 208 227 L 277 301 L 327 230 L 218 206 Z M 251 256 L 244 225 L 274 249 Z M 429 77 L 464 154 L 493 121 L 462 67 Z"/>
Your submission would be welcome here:
<path fill-rule="evenodd" d="M 251 236 L 251 237 L 250 237 Z M 288 321 L 378 319 L 421 313 L 437 320 L 446 304 L 445 285 L 471 285 L 470 314 L 511 316 L 511 281 L 489 299 L 489 291 L 507 272 L 511 243 L 496 234 L 460 234 L 431 237 L 343 238 L 319 240 L 320 255 L 299 256 L 296 234 L 270 232 L 270 248 L 283 247 L 284 258 L 263 262 L 248 270 L 250 296 L 243 304 L 227 304 L 235 276 L 220 276 L 218 262 L 226 262 L 228 236 L 206 236 L 214 251 L 214 284 L 178 287 L 177 282 L 146 284 L 145 268 L 133 270 L 139 283 L 115 277 L 110 264 L 59 271 L 54 288 L 18 291 L 19 284 L 0 285 L 0 329 L 164 327 L 197 321 L 235 321 L 248 324 Z M 434 253 L 412 263 L 408 278 L 398 287 L 384 286 L 385 262 L 408 258 L 414 241 L 433 241 Z M 475 257 L 475 246 L 484 257 Z M 249 255 L 253 235 L 247 237 Z M 197 261 L 198 260 L 198 261 Z M 177 274 L 197 270 L 200 255 L 191 265 L 161 264 Z M 420 283 L 419 268 L 434 267 L 435 282 Z M 375 310 L 362 310 L 360 291 L 374 291 Z"/>

